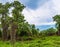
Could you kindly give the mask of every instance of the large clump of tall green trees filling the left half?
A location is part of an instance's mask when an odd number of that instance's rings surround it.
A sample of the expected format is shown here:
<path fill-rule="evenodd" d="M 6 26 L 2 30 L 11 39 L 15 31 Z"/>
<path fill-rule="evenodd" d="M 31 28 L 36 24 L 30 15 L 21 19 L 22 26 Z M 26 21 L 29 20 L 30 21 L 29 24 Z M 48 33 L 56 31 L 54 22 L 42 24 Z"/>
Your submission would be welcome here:
<path fill-rule="evenodd" d="M 22 11 L 25 6 L 19 1 L 14 1 L 12 3 L 7 2 L 5 4 L 0 3 L 0 7 L 0 15 L 2 16 L 1 28 L 3 29 L 3 38 L 7 38 L 9 36 L 12 37 L 13 34 L 17 35 L 17 37 L 38 35 L 39 29 L 36 29 L 35 25 L 30 25 L 28 22 L 25 21 L 24 16 L 22 14 Z M 9 17 L 9 9 L 11 9 L 12 7 L 12 17 Z M 8 34 L 7 31 L 9 31 L 10 34 Z M 13 36 L 12 38 L 15 37 L 16 36 Z"/>

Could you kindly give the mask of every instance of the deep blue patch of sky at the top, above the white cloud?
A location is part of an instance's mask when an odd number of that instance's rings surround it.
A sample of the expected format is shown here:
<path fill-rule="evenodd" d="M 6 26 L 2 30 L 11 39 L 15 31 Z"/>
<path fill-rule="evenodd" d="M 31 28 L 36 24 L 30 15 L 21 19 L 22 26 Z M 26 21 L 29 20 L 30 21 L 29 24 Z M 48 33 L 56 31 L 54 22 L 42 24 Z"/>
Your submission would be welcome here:
<path fill-rule="evenodd" d="M 49 0 L 20 0 L 25 6 L 27 6 L 30 9 L 37 9 L 38 3 L 40 2 L 40 6 L 42 6 L 46 1 Z"/>

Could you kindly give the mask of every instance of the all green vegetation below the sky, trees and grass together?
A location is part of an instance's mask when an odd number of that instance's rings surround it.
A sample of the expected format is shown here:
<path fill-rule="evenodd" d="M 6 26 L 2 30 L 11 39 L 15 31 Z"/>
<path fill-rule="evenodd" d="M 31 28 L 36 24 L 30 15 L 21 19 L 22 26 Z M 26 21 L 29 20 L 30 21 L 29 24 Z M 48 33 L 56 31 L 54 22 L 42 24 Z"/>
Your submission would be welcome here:
<path fill-rule="evenodd" d="M 0 3 L 0 47 L 60 47 L 60 15 L 53 17 L 56 28 L 40 31 L 24 19 L 25 7 L 19 1 Z"/>

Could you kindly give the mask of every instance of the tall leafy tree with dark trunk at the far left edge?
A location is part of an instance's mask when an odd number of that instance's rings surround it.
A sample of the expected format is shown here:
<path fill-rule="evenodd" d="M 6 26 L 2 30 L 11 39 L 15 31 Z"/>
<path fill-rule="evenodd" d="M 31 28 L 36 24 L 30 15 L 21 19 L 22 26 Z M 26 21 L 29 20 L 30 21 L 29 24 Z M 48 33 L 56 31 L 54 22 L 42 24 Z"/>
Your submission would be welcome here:
<path fill-rule="evenodd" d="M 1 24 L 2 24 L 2 39 L 3 40 L 7 40 L 8 25 L 6 22 L 6 16 L 8 16 L 9 7 L 10 7 L 10 4 L 8 2 L 5 5 L 2 5 L 2 3 L 0 3 L 0 14 L 2 15 Z"/>

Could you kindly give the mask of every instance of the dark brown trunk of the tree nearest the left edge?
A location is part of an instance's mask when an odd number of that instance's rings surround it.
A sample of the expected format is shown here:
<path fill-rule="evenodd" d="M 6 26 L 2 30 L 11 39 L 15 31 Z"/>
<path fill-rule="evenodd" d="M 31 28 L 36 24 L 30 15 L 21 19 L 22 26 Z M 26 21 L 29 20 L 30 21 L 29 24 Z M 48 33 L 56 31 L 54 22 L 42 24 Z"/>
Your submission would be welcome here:
<path fill-rule="evenodd" d="M 7 29 L 8 29 L 8 26 L 6 25 L 6 22 L 5 22 L 5 15 L 2 15 L 2 40 L 5 41 L 7 40 Z"/>

